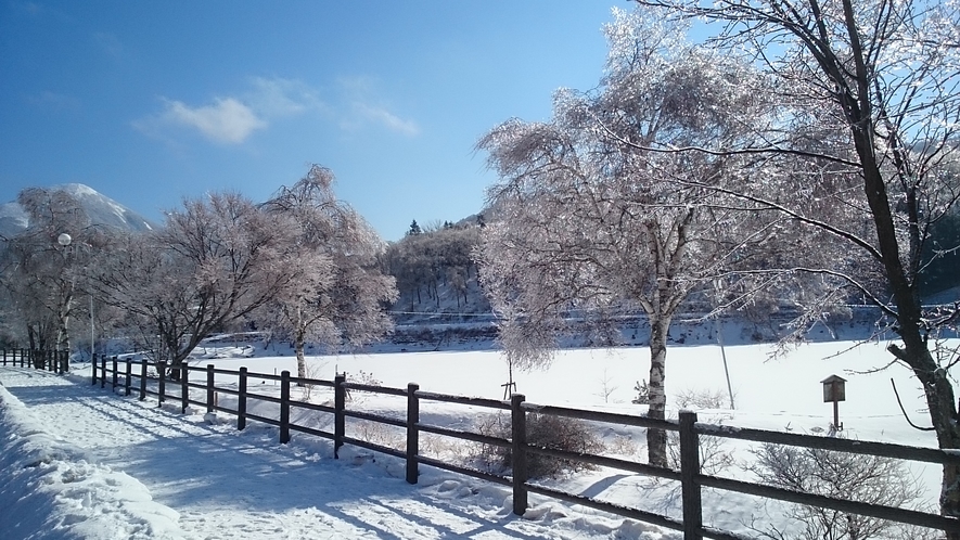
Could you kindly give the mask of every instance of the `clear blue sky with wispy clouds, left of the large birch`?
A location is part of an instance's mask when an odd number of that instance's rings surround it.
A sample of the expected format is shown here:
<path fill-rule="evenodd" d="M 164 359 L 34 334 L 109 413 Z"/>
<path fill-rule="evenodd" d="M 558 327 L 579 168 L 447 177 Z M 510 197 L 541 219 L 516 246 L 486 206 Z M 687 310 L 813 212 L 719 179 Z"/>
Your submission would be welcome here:
<path fill-rule="evenodd" d="M 0 202 L 80 182 L 161 221 L 317 163 L 386 240 L 478 211 L 474 143 L 602 75 L 625 0 L 0 0 Z"/>

